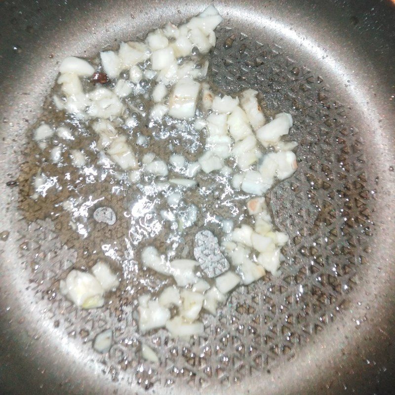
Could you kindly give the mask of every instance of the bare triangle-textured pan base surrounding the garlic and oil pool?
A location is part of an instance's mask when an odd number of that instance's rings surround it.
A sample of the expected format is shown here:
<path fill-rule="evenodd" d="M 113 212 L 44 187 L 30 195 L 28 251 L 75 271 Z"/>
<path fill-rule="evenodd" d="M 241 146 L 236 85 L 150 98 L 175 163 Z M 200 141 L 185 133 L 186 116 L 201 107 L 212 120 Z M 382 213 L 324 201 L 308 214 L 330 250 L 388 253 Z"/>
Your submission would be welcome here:
<path fill-rule="evenodd" d="M 370 235 L 362 142 L 325 81 L 284 57 L 280 47 L 227 29 L 218 34 L 211 75 L 225 91 L 256 87 L 267 114 L 293 115 L 299 169 L 270 193 L 276 226 L 291 239 L 281 276 L 239 288 L 216 317 L 205 316 L 199 339 L 172 340 L 165 331 L 144 336 L 161 359 L 153 368 L 139 359 L 142 339 L 127 296 L 118 292 L 122 302 L 116 308 L 76 310 L 56 290 L 77 253 L 61 245 L 49 220 L 36 221 L 21 236 L 32 286 L 48 299 L 49 316 L 70 341 L 86 343 L 87 353 L 103 362 L 112 380 L 122 375 L 144 389 L 176 382 L 193 388 L 229 385 L 270 368 L 278 358 L 292 358 L 297 346 L 342 310 Z M 89 345 L 108 327 L 114 329 L 115 346 L 107 356 L 96 355 Z"/>

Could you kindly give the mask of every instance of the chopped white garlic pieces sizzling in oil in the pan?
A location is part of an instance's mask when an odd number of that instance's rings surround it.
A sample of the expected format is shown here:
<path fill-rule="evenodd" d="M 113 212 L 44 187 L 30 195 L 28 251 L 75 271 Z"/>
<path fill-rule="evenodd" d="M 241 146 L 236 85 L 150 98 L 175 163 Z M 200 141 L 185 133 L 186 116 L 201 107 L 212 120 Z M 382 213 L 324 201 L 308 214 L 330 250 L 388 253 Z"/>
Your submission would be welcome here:
<path fill-rule="evenodd" d="M 92 77 L 93 66 L 72 56 L 60 65 L 57 82 L 62 95 L 53 97 L 54 104 L 81 122 L 90 122 L 98 138 L 99 154 L 128 172 L 131 182 L 137 182 L 142 172 L 153 173 L 161 179 L 168 174 L 164 158 L 156 158 L 154 154 L 140 158 L 143 160 L 139 165 L 138 153 L 122 133 L 121 126 L 135 122 L 124 99 L 141 94 L 141 81 L 148 80 L 152 90 L 145 92 L 145 97 L 153 102 L 147 110 L 151 124 L 164 117 L 189 119 L 195 130 L 205 135 L 204 154 L 188 164 L 186 177 L 168 182 L 194 188 L 194 177 L 199 171 L 217 171 L 232 177 L 234 190 L 241 189 L 251 196 L 246 202 L 251 226 L 229 229 L 222 238 L 221 248 L 230 260 L 231 269 L 213 279 L 204 279 L 197 273 L 195 260 L 169 261 L 152 246 L 143 249 L 142 265 L 174 277 L 176 285 L 163 289 L 158 296 L 147 294 L 139 298 L 141 334 L 161 327 L 174 337 L 203 334 L 201 311 L 215 315 L 218 304 L 224 303 L 238 284 L 250 284 L 264 276 L 265 271 L 278 274 L 283 259 L 280 249 L 288 240 L 286 234 L 274 230 L 263 196 L 276 179 L 283 180 L 296 170 L 292 149 L 297 144 L 281 140 L 281 136 L 288 134 L 292 118 L 280 113 L 266 122 L 257 100 L 258 92 L 253 89 L 234 97 L 214 95 L 205 81 L 208 60 L 201 62 L 200 58 L 196 64 L 192 55 L 197 51 L 207 54 L 215 46 L 214 30 L 221 21 L 218 11 L 210 5 L 181 26 L 169 23 L 149 33 L 144 42 L 122 42 L 118 51 L 101 52 L 101 77 L 117 81 L 113 86 L 97 84 L 93 90 L 84 92 L 81 79 Z M 125 77 L 125 71 L 129 78 Z M 55 133 L 53 128 L 41 124 L 35 139 L 44 147 L 52 133 Z M 64 127 L 58 128 L 56 133 L 63 139 L 72 138 L 71 131 Z M 271 149 L 264 150 L 268 147 Z M 52 155 L 53 161 L 61 160 L 61 155 L 57 149 Z M 72 153 L 72 158 L 75 166 L 85 163 L 82 152 Z M 235 159 L 234 168 L 225 164 L 228 158 Z M 45 180 L 40 177 L 36 177 L 35 184 L 38 194 L 45 188 Z M 72 270 L 61 282 L 61 291 L 79 307 L 89 309 L 103 306 L 104 293 L 117 286 L 117 276 L 99 262 L 92 274 Z M 177 314 L 172 316 L 171 310 Z"/>

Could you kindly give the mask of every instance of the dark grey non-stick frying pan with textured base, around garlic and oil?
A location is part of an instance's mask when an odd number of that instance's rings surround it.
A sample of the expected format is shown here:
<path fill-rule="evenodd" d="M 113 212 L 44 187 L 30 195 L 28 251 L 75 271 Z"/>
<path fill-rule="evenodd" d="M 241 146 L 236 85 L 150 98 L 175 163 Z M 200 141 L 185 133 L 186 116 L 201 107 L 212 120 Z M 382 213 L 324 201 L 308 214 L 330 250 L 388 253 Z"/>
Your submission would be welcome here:
<path fill-rule="evenodd" d="M 64 252 L 50 219 L 27 223 L 18 177 L 59 61 L 206 5 L 0 2 L 1 394 L 394 393 L 392 1 L 215 2 L 212 79 L 256 87 L 294 118 L 299 169 L 270 193 L 291 237 L 280 277 L 238 289 L 201 338 L 150 335 L 158 366 L 140 358 L 131 311 L 81 312 L 57 294 L 73 246 Z M 115 345 L 102 356 L 91 343 L 107 327 Z"/>

